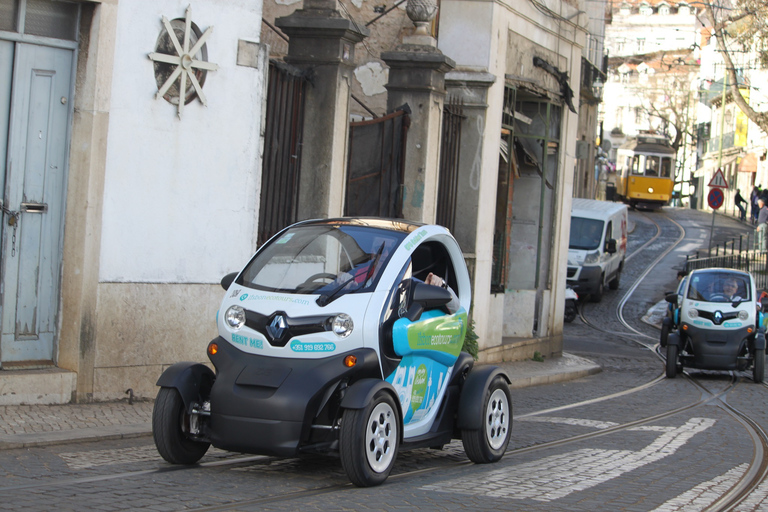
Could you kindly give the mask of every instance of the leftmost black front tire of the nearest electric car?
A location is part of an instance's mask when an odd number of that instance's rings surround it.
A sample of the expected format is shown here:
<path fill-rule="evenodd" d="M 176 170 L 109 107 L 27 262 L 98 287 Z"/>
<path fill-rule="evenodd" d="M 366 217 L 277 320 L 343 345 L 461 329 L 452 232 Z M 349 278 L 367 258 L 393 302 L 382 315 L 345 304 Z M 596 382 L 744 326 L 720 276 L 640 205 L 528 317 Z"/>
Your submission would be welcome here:
<path fill-rule="evenodd" d="M 192 441 L 184 433 L 189 423 L 181 395 L 174 388 L 160 388 L 152 409 L 152 437 L 160 455 L 171 464 L 194 464 L 210 443 Z"/>

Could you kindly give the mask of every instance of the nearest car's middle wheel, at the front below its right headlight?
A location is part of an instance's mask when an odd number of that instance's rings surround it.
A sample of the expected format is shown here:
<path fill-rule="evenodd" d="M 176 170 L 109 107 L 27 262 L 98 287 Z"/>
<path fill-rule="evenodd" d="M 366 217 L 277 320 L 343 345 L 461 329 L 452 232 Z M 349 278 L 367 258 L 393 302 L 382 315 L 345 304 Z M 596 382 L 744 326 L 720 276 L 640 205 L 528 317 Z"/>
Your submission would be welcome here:
<path fill-rule="evenodd" d="M 379 391 L 364 409 L 345 409 L 339 455 L 349 480 L 358 487 L 383 483 L 395 465 L 400 416 L 394 398 Z"/>

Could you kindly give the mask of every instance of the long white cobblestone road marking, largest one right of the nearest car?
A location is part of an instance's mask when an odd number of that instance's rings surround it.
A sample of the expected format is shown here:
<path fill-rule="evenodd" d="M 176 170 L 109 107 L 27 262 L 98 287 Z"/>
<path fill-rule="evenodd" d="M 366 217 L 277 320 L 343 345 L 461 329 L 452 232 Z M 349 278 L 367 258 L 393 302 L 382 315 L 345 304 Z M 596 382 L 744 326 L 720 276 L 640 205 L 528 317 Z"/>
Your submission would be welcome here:
<path fill-rule="evenodd" d="M 553 501 L 589 489 L 624 473 L 674 454 L 694 435 L 715 424 L 691 418 L 685 425 L 664 431 L 640 451 L 587 448 L 562 455 L 450 480 L 422 489 L 496 498 Z"/>

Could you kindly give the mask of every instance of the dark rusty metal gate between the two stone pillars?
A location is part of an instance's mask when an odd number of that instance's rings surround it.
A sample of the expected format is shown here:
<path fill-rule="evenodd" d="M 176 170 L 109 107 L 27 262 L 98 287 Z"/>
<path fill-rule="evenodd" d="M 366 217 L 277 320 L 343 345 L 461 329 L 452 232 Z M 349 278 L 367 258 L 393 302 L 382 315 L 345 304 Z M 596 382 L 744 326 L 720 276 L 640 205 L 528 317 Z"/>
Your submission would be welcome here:
<path fill-rule="evenodd" d="M 405 142 L 410 108 L 349 124 L 344 214 L 402 218 Z"/>

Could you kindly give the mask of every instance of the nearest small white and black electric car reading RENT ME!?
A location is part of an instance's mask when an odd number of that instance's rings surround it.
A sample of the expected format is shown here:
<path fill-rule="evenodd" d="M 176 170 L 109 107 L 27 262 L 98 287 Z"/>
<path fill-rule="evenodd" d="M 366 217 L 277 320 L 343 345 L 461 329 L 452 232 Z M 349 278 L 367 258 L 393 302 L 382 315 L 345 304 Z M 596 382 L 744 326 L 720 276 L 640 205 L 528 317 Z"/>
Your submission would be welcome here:
<path fill-rule="evenodd" d="M 442 286 L 426 284 L 433 274 Z M 430 277 L 431 280 L 431 277 Z M 403 220 L 300 222 L 222 279 L 215 371 L 160 376 L 152 417 L 165 460 L 209 445 L 341 458 L 358 486 L 386 480 L 398 450 L 460 438 L 474 462 L 501 459 L 509 379 L 462 352 L 470 279 L 443 227 Z"/>

